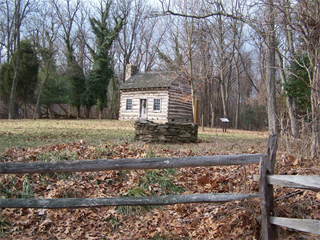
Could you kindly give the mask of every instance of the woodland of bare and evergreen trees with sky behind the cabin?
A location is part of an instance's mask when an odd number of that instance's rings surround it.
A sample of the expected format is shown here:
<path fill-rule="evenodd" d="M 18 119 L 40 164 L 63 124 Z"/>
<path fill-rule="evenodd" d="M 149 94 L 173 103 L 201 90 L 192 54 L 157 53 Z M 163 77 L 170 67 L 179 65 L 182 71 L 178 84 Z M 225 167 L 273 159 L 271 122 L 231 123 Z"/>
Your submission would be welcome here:
<path fill-rule="evenodd" d="M 117 113 L 129 63 L 183 72 L 205 126 L 320 141 L 320 1 L 1 0 L 8 118 L 41 106 Z M 80 116 L 80 107 L 87 111 Z"/>

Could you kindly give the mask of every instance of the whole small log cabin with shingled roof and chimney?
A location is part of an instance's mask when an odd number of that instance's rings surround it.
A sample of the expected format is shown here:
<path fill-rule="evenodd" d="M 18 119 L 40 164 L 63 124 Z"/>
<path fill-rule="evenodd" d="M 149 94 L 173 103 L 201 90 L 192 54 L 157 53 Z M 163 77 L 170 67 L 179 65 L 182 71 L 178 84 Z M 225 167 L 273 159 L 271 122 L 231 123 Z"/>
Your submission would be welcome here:
<path fill-rule="evenodd" d="M 127 65 L 120 86 L 119 119 L 192 123 L 191 90 L 176 72 L 139 73 Z"/>

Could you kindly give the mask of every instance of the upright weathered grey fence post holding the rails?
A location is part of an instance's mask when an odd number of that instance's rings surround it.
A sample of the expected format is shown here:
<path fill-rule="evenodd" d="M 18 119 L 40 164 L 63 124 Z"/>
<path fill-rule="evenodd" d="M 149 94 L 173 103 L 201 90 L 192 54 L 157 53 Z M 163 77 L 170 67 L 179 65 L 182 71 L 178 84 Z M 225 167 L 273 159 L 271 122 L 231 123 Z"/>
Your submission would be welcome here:
<path fill-rule="evenodd" d="M 273 185 L 267 183 L 267 175 L 273 175 L 278 148 L 277 135 L 269 136 L 266 157 L 260 160 L 260 207 L 261 207 L 261 239 L 276 239 L 276 226 L 272 225 L 269 216 L 274 216 Z"/>

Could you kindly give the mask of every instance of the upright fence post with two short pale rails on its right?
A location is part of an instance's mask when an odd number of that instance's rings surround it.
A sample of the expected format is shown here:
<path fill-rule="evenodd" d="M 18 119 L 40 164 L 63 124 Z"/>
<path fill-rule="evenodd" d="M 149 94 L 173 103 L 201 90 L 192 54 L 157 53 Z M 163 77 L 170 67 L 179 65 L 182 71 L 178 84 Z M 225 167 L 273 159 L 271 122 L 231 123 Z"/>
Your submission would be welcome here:
<path fill-rule="evenodd" d="M 319 220 L 275 216 L 274 185 L 320 191 L 320 175 L 274 175 L 276 147 L 272 149 L 273 152 L 269 153 L 270 155 L 274 155 L 274 157 L 270 158 L 272 161 L 269 161 L 266 157 L 262 157 L 260 161 L 260 175 L 254 175 L 254 180 L 259 181 L 262 239 L 276 239 L 276 225 L 320 235 Z"/>

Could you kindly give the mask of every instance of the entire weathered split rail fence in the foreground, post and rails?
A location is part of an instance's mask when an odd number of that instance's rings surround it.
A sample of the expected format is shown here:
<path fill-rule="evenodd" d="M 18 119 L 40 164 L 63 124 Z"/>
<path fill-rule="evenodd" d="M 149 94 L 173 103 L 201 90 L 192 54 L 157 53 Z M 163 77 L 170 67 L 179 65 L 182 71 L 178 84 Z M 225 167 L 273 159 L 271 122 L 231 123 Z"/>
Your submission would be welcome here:
<path fill-rule="evenodd" d="M 258 178 L 260 195 L 247 193 L 206 193 L 189 195 L 165 195 L 149 197 L 114 197 L 114 198 L 50 198 L 50 199 L 0 199 L 1 208 L 86 208 L 102 206 L 136 206 L 136 205 L 172 205 L 181 203 L 223 203 L 260 197 L 262 239 L 275 239 L 275 225 L 286 226 L 302 231 L 320 234 L 320 221 L 296 220 L 274 217 L 273 185 L 283 184 L 289 187 L 299 187 L 319 191 L 320 177 L 313 177 L 312 181 L 306 176 L 272 175 L 277 151 L 277 137 L 271 135 L 268 142 L 267 154 L 250 155 L 213 155 L 179 158 L 141 158 L 141 159 L 105 159 L 85 161 L 59 162 L 1 162 L 0 174 L 17 173 L 70 173 L 94 172 L 109 170 L 133 169 L 164 169 L 201 166 L 231 166 L 260 162 L 260 176 Z M 300 181 L 301 180 L 301 181 Z M 303 180 L 303 182 L 302 182 Z M 302 221 L 305 227 L 297 221 Z M 298 225 L 296 227 L 296 225 Z"/>

